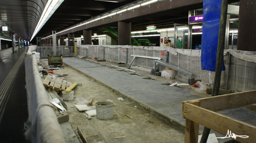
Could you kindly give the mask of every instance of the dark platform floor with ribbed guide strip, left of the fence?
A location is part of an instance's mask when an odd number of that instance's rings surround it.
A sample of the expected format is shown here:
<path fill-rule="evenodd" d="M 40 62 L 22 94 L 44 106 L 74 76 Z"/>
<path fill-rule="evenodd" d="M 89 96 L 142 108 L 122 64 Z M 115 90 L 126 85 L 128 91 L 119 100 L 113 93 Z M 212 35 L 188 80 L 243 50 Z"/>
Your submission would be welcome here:
<path fill-rule="evenodd" d="M 24 122 L 28 118 L 24 53 L 4 55 L 0 61 L 0 142 L 25 143 Z"/>

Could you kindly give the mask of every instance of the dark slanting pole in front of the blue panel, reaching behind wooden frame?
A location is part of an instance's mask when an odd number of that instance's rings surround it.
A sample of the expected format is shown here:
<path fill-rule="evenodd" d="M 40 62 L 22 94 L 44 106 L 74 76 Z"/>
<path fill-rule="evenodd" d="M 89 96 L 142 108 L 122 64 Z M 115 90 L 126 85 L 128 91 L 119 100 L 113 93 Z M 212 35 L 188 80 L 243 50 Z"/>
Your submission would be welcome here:
<path fill-rule="evenodd" d="M 224 52 L 224 46 L 225 46 L 227 10 L 228 10 L 228 1 L 222 0 L 221 8 L 220 8 L 220 29 L 219 29 L 218 49 L 217 49 L 216 68 L 215 68 L 215 77 L 213 82 L 212 96 L 218 96 L 219 90 L 220 90 L 220 76 L 221 76 L 221 69 L 222 69 L 222 63 L 223 63 L 223 57 L 224 57 L 223 52 Z M 200 143 L 207 142 L 210 130 L 211 129 L 204 127 L 204 131 L 203 131 Z"/>

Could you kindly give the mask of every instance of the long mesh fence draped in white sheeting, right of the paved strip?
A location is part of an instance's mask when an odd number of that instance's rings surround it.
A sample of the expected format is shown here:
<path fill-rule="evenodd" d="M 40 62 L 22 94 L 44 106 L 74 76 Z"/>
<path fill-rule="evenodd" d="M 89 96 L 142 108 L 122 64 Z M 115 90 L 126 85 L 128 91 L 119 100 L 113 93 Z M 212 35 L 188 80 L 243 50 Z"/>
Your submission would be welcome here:
<path fill-rule="evenodd" d="M 212 84 L 215 75 L 215 72 L 201 69 L 201 50 L 154 46 L 77 45 L 77 55 L 121 63 L 129 63 L 133 58 L 131 55 L 160 57 L 162 61 L 192 73 L 192 78 L 201 79 L 202 82 Z M 237 91 L 256 89 L 256 52 L 225 50 L 224 64 L 226 70 L 221 74 L 221 87 Z M 136 58 L 132 65 L 153 68 L 154 62 L 152 59 Z M 164 68 L 160 66 L 160 69 Z M 187 76 L 177 71 L 176 74 Z"/>

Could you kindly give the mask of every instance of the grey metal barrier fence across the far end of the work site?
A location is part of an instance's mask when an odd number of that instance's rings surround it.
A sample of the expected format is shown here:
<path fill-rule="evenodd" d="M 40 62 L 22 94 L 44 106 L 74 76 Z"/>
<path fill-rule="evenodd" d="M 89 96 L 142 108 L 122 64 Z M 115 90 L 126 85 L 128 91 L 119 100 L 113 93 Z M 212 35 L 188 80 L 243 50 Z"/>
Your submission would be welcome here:
<path fill-rule="evenodd" d="M 62 54 L 63 57 L 73 57 L 74 49 L 73 46 L 57 46 L 57 56 Z M 40 53 L 40 58 L 47 58 L 48 54 L 53 55 L 52 46 L 37 46 L 36 52 Z"/>

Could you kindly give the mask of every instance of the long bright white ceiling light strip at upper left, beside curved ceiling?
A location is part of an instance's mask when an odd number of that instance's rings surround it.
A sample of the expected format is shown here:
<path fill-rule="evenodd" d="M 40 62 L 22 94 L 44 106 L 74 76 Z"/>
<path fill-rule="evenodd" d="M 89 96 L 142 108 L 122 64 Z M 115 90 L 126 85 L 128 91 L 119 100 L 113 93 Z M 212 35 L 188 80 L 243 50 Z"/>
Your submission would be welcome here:
<path fill-rule="evenodd" d="M 64 0 L 48 0 L 30 41 L 36 36 L 39 30 L 44 26 L 47 20 L 52 16 L 63 1 Z"/>

